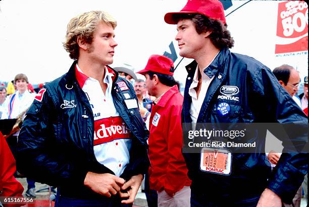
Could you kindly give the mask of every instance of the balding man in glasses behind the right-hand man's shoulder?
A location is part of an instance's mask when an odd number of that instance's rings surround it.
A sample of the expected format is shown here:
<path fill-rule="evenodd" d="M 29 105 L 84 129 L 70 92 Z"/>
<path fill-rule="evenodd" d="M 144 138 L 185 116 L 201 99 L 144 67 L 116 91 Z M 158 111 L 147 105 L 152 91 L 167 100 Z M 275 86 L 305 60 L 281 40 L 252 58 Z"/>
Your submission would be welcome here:
<path fill-rule="evenodd" d="M 299 72 L 289 65 L 282 65 L 273 70 L 282 87 L 292 96 L 293 100 L 300 107 L 300 98 L 297 96 L 300 82 Z"/>

